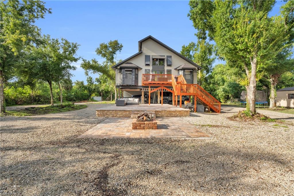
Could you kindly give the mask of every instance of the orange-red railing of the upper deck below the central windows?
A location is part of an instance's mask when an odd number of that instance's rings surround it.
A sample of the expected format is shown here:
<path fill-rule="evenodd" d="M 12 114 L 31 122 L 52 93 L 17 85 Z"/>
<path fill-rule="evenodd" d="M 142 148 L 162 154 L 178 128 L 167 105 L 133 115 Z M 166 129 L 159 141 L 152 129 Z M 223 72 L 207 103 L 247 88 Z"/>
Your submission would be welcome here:
<path fill-rule="evenodd" d="M 171 74 L 142 74 L 142 84 L 172 84 Z"/>

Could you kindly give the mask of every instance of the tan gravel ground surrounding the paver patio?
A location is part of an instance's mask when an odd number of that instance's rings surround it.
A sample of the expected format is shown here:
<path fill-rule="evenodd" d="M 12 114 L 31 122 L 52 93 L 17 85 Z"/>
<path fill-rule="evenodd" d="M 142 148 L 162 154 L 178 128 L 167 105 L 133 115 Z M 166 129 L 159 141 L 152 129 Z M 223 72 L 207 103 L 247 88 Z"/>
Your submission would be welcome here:
<path fill-rule="evenodd" d="M 228 120 L 237 107 L 179 118 L 213 139 L 76 138 L 105 106 L 1 117 L 0 194 L 293 195 L 292 114 L 259 111 L 286 124 Z"/>

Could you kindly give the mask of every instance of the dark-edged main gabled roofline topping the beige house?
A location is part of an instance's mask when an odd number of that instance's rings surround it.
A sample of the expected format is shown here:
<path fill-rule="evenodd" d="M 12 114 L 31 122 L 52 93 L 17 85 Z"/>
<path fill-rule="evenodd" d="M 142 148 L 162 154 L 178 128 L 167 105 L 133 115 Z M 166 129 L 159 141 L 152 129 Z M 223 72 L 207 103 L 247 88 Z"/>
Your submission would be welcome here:
<path fill-rule="evenodd" d="M 180 53 L 178 53 L 177 51 L 175 51 L 174 49 L 168 47 L 166 44 L 163 44 L 161 41 L 159 41 L 158 39 L 155 39 L 154 37 L 152 37 L 151 35 L 145 37 L 144 39 L 141 39 L 140 41 L 138 41 L 138 53 L 134 54 L 133 56 L 119 62 L 118 64 L 112 66 L 112 68 L 114 69 L 115 67 L 118 67 L 119 65 L 127 62 L 128 60 L 132 59 L 133 57 L 138 56 L 139 54 L 142 53 L 142 43 L 148 39 L 151 39 L 153 41 L 155 41 L 157 44 L 163 46 L 164 48 L 168 49 L 169 51 L 173 52 L 174 54 L 176 54 L 177 56 L 181 57 L 182 59 L 184 59 L 185 61 L 187 61 L 188 63 L 192 64 L 193 66 L 196 67 L 197 70 L 202 69 L 202 67 L 200 67 L 198 64 L 194 63 L 193 61 L 191 61 L 190 59 L 187 59 L 186 57 L 184 57 L 183 55 L 181 55 Z"/>

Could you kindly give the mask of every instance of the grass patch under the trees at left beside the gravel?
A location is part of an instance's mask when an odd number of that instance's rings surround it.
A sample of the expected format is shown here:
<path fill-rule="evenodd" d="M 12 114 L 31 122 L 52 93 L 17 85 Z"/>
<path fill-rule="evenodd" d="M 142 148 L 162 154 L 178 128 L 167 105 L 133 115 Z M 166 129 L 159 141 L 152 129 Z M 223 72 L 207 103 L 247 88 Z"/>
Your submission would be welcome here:
<path fill-rule="evenodd" d="M 68 112 L 72 110 L 84 109 L 86 105 L 74 105 L 71 103 L 63 105 L 54 106 L 41 106 L 41 107 L 27 107 L 18 111 L 7 111 L 2 116 L 32 116 L 32 115 L 42 115 L 42 114 L 53 114 L 60 112 Z"/>

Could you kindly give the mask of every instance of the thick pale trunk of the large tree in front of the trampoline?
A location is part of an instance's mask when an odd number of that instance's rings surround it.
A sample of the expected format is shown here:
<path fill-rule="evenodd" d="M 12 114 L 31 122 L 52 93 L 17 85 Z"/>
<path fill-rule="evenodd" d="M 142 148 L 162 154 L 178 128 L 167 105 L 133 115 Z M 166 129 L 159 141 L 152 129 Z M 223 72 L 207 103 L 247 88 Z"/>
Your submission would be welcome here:
<path fill-rule="evenodd" d="M 247 104 L 249 106 L 249 110 L 256 114 L 255 109 L 255 94 L 256 94 L 256 67 L 257 67 L 257 58 L 256 55 L 253 58 L 250 58 L 251 63 L 251 74 L 249 79 L 249 85 L 247 88 Z"/>

